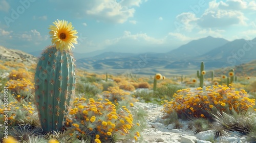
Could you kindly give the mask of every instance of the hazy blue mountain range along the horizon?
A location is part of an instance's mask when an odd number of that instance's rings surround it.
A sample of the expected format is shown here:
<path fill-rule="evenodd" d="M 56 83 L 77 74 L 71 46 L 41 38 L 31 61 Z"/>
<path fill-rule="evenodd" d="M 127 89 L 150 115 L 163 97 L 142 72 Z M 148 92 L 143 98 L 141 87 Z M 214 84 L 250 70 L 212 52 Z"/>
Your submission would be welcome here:
<path fill-rule="evenodd" d="M 16 53 L 20 52 L 13 52 Z M 27 56 L 39 57 L 40 53 L 33 52 Z M 210 36 L 190 41 L 166 53 L 120 53 L 115 48 L 113 51 L 108 49 L 87 54 L 74 53 L 77 67 L 90 72 L 142 75 L 163 73 L 166 76 L 195 73 L 202 61 L 205 70 L 212 70 L 250 62 L 256 59 L 255 55 L 256 38 L 228 41 Z"/>

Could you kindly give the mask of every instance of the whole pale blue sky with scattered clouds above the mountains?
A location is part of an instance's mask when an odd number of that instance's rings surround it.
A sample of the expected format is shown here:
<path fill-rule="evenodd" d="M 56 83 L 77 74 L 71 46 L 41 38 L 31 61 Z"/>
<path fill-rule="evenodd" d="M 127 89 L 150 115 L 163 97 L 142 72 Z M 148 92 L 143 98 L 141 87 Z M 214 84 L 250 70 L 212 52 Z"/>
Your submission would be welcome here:
<path fill-rule="evenodd" d="M 207 36 L 256 37 L 256 0 L 0 0 L 0 17 L 0 45 L 25 52 L 51 44 L 48 28 L 57 19 L 78 31 L 79 53 L 167 52 Z"/>

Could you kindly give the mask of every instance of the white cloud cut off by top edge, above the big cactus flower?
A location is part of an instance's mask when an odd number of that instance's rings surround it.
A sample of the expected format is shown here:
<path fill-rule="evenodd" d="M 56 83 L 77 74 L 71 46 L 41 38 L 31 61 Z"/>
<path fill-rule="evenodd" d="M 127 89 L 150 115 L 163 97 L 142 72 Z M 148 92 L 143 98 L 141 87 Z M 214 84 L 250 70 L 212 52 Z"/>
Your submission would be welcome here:
<path fill-rule="evenodd" d="M 72 11 L 76 17 L 92 17 L 98 21 L 124 23 L 134 16 L 134 7 L 139 7 L 142 0 L 77 0 L 70 3 L 69 0 L 50 0 L 56 4 L 57 9 Z"/>

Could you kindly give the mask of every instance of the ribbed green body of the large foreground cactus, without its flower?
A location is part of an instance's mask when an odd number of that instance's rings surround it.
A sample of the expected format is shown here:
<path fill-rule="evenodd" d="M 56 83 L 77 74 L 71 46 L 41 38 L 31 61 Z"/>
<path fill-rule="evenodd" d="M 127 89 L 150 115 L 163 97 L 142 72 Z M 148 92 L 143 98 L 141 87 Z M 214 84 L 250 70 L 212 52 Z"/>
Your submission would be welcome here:
<path fill-rule="evenodd" d="M 75 89 L 72 53 L 49 46 L 41 55 L 35 72 L 35 97 L 44 131 L 60 131 Z"/>

